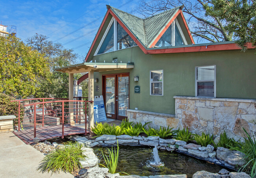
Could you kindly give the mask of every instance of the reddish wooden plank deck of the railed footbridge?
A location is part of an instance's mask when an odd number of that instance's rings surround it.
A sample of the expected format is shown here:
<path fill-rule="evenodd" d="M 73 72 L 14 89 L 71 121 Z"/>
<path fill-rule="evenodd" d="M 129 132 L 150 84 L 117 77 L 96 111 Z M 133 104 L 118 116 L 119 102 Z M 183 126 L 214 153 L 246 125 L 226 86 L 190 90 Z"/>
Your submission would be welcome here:
<path fill-rule="evenodd" d="M 87 134 L 89 132 L 87 131 Z M 32 144 L 34 138 L 34 128 L 20 130 L 18 132 L 13 132 L 18 138 L 20 138 L 24 143 Z M 64 136 L 74 135 L 74 134 L 85 134 L 85 128 L 64 125 Z M 36 128 L 36 137 L 39 141 L 44 141 L 46 139 L 52 139 L 62 136 L 62 125 L 53 125 L 48 127 Z"/>

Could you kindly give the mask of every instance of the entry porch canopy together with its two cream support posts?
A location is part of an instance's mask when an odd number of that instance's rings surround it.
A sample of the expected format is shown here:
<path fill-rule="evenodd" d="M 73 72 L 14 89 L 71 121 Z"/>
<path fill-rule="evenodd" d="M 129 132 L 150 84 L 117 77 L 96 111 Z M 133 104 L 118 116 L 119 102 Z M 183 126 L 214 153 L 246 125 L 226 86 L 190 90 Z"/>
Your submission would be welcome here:
<path fill-rule="evenodd" d="M 72 66 L 65 66 L 62 68 L 56 68 L 58 72 L 69 73 L 69 100 L 73 99 L 73 85 L 74 85 L 74 73 L 84 73 L 88 72 L 88 101 L 94 101 L 94 72 L 105 72 L 105 71 L 115 71 L 123 69 L 134 68 L 133 63 L 97 63 L 97 62 L 84 62 L 82 64 L 76 64 Z M 87 74 L 86 74 L 87 75 Z M 72 102 L 69 103 L 72 105 Z M 93 113 L 93 103 L 89 103 L 89 126 L 88 130 L 94 125 L 94 113 Z M 69 108 L 70 113 L 70 124 L 73 121 L 74 113 L 72 108 Z"/>

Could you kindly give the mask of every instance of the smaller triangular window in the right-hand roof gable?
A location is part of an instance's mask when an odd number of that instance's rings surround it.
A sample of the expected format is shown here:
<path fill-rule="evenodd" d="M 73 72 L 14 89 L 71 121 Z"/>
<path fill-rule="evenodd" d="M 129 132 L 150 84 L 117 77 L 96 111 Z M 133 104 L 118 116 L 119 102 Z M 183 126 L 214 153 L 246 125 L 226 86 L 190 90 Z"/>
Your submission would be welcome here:
<path fill-rule="evenodd" d="M 166 46 L 182 46 L 187 44 L 186 39 L 182 33 L 182 30 L 177 20 L 167 28 L 165 33 L 161 36 L 158 42 L 154 45 L 155 47 L 166 47 Z"/>

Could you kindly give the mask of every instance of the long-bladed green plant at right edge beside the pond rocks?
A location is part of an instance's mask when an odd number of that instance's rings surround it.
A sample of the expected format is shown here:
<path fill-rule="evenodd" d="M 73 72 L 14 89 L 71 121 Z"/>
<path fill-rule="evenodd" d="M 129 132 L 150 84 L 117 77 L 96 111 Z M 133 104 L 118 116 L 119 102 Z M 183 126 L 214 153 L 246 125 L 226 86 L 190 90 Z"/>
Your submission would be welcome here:
<path fill-rule="evenodd" d="M 247 138 L 245 138 L 245 143 L 239 144 L 238 147 L 231 147 L 234 150 L 238 150 L 240 152 L 243 152 L 245 154 L 244 160 L 245 165 L 243 165 L 240 169 L 240 171 L 246 172 L 251 177 L 256 177 L 256 140 L 255 136 L 252 135 L 252 138 L 250 138 L 248 132 L 243 128 L 245 131 L 245 134 L 247 135 Z"/>

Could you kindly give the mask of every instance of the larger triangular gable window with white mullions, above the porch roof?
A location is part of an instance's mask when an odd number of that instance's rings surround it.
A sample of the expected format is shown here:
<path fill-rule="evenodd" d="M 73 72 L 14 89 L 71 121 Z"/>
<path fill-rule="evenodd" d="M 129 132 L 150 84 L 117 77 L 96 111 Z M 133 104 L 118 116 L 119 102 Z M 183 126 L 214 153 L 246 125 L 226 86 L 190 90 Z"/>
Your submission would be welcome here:
<path fill-rule="evenodd" d="M 137 46 L 130 35 L 112 17 L 94 55 Z"/>

